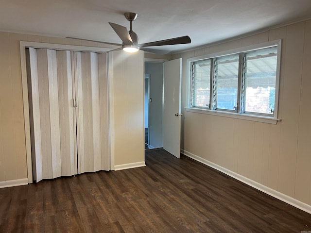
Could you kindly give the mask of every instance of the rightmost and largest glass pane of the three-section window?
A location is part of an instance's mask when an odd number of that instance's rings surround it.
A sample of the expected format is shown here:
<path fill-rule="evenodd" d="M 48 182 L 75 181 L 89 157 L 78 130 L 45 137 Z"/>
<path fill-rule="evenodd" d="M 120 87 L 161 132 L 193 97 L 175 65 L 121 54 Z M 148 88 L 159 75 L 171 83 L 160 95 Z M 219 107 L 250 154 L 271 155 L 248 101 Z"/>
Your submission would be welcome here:
<path fill-rule="evenodd" d="M 277 48 L 246 54 L 245 112 L 271 114 L 276 95 Z"/>

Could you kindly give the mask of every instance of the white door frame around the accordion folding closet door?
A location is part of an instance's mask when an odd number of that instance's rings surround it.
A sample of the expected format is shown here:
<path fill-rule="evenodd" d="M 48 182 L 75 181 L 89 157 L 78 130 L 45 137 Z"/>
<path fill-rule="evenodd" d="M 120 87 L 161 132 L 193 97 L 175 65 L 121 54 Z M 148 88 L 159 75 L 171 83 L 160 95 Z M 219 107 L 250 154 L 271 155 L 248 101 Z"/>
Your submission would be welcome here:
<path fill-rule="evenodd" d="M 20 62 L 21 62 L 21 78 L 22 78 L 22 91 L 23 91 L 23 107 L 24 107 L 24 125 L 25 125 L 25 143 L 26 143 L 26 159 L 27 159 L 27 174 L 28 183 L 33 183 L 33 166 L 32 166 L 32 154 L 31 154 L 31 136 L 30 136 L 30 116 L 29 116 L 29 102 L 28 102 L 28 81 L 27 81 L 27 69 L 26 69 L 26 48 L 32 47 L 35 49 L 54 49 L 54 50 L 77 50 L 77 51 L 89 51 L 89 52 L 107 52 L 111 48 L 99 48 L 99 47 L 88 47 L 88 46 L 73 46 L 73 45 L 60 45 L 60 44 L 49 44 L 39 42 L 20 41 Z M 110 56 L 108 56 L 109 62 Z M 110 68 L 108 67 L 109 74 Z M 112 92 L 112 80 L 109 79 L 108 74 L 108 96 Z M 114 167 L 114 154 L 111 153 L 110 135 L 112 134 L 113 127 L 111 127 L 111 106 L 113 98 L 109 98 L 109 157 L 110 157 L 110 169 Z"/>

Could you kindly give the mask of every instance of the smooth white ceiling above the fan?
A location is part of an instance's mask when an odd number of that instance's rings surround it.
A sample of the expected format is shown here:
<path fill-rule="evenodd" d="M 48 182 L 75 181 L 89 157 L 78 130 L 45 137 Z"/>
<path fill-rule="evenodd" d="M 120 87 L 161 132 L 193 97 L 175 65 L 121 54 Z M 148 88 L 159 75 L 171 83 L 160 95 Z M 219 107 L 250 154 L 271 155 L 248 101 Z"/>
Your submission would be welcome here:
<path fill-rule="evenodd" d="M 108 22 L 129 29 L 125 12 L 140 43 L 189 35 L 153 47 L 180 51 L 311 18 L 311 0 L 0 0 L 0 31 L 121 43 Z"/>

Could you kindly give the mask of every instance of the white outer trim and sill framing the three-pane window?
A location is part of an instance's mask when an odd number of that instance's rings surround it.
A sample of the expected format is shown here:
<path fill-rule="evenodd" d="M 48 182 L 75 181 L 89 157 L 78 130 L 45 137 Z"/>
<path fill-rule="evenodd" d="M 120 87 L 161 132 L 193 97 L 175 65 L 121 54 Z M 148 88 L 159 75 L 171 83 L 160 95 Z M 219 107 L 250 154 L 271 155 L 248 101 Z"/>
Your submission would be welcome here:
<path fill-rule="evenodd" d="M 251 45 L 247 47 L 242 47 L 238 49 L 233 50 L 225 50 L 221 52 L 211 53 L 203 56 L 198 57 L 192 57 L 187 59 L 187 106 L 186 111 L 192 112 L 192 113 L 200 113 L 200 114 L 208 114 L 208 115 L 214 115 L 214 116 L 224 116 L 224 117 L 230 117 L 230 118 L 236 118 L 236 119 L 244 119 L 244 120 L 251 120 L 251 121 L 257 121 L 257 122 L 263 122 L 263 123 L 270 123 L 270 124 L 276 124 L 277 121 L 281 121 L 281 119 L 277 118 L 278 116 L 278 98 L 279 98 L 279 82 L 280 82 L 280 60 L 281 60 L 281 43 L 282 40 L 274 40 L 274 41 L 268 41 L 256 45 Z M 265 49 L 269 47 L 277 46 L 277 63 L 276 63 L 276 97 L 275 97 L 275 112 L 273 117 L 269 116 L 259 116 L 259 115 L 252 115 L 252 114 L 245 114 L 245 113 L 231 113 L 231 112 L 225 112 L 225 111 L 218 111 L 218 110 L 209 110 L 205 108 L 198 108 L 198 107 L 190 107 L 190 82 L 191 82 L 191 62 L 194 61 L 200 61 L 205 60 L 209 58 L 215 58 L 225 55 L 231 55 L 235 53 L 241 53 L 241 52 L 248 52 L 251 50 L 259 50 L 259 49 Z"/>

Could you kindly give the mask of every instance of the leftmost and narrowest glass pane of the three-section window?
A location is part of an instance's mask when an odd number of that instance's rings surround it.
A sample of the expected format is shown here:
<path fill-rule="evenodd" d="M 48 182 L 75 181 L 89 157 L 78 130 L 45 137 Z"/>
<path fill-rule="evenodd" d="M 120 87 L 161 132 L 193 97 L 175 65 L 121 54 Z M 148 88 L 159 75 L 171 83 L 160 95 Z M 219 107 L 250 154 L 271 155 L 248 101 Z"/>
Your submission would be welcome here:
<path fill-rule="evenodd" d="M 193 63 L 193 106 L 207 107 L 210 89 L 210 59 Z"/>

